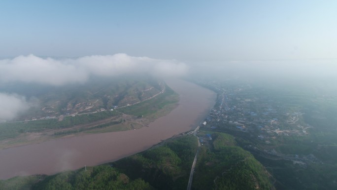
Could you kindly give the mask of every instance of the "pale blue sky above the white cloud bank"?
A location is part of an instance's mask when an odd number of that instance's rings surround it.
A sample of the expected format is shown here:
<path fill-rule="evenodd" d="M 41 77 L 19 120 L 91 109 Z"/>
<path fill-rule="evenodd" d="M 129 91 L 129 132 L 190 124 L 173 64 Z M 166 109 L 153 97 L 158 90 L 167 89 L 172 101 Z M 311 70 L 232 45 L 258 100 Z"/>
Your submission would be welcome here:
<path fill-rule="evenodd" d="M 0 57 L 337 58 L 336 0 L 1 0 Z"/>

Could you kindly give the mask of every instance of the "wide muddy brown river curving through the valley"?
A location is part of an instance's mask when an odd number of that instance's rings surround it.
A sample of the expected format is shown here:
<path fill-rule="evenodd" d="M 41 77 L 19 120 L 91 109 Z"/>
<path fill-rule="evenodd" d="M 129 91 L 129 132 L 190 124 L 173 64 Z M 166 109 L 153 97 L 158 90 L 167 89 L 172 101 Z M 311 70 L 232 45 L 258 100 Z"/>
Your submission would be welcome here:
<path fill-rule="evenodd" d="M 54 174 L 111 162 L 144 151 L 195 128 L 215 104 L 216 94 L 184 80 L 167 80 L 180 96 L 169 114 L 137 130 L 90 134 L 0 150 L 0 179 Z"/>

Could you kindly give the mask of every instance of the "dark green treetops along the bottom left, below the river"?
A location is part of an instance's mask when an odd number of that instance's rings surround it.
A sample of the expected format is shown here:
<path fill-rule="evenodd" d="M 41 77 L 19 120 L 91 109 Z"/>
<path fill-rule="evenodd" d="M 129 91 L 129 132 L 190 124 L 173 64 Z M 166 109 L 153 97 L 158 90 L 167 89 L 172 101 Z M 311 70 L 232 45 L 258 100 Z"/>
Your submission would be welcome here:
<path fill-rule="evenodd" d="M 15 177 L 0 180 L 1 190 L 154 190 L 141 179 L 130 180 L 108 165 L 87 170 L 62 172 L 52 176 Z"/>

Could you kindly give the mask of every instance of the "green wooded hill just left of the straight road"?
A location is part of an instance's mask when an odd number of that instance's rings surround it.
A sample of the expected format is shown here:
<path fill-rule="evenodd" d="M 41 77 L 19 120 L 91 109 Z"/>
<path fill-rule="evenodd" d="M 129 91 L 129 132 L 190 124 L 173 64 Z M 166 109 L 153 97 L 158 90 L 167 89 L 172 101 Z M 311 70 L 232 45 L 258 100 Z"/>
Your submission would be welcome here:
<path fill-rule="evenodd" d="M 131 179 L 140 177 L 158 190 L 186 190 L 197 145 L 194 136 L 179 137 L 113 165 Z"/>

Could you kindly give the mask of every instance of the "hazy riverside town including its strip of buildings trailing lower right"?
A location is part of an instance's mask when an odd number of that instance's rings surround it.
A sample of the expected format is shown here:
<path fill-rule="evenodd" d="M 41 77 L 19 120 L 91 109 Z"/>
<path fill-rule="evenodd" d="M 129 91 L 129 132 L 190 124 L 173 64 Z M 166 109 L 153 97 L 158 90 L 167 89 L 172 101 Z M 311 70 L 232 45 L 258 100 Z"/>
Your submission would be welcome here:
<path fill-rule="evenodd" d="M 308 162 L 320 162 L 312 154 L 283 154 L 273 148 L 281 137 L 308 135 L 307 129 L 312 126 L 303 122 L 304 113 L 287 108 L 272 97 L 252 90 L 249 85 L 222 87 L 215 82 L 202 85 L 218 93 L 215 106 L 201 124 L 202 129 L 246 134 L 257 143 L 244 148 L 268 159 L 290 160 L 302 167 Z M 211 135 L 203 135 L 200 139 L 202 143 L 211 141 Z"/>

